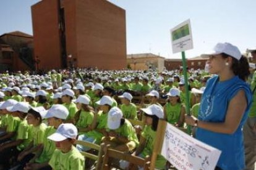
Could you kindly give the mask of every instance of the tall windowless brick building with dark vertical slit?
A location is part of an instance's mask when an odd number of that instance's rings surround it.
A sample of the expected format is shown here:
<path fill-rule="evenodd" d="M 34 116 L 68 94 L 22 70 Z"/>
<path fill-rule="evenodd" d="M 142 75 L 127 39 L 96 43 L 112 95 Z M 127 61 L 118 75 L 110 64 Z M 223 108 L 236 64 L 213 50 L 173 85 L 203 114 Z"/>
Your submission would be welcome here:
<path fill-rule="evenodd" d="M 126 67 L 126 11 L 105 0 L 42 0 L 32 6 L 38 67 Z"/>

